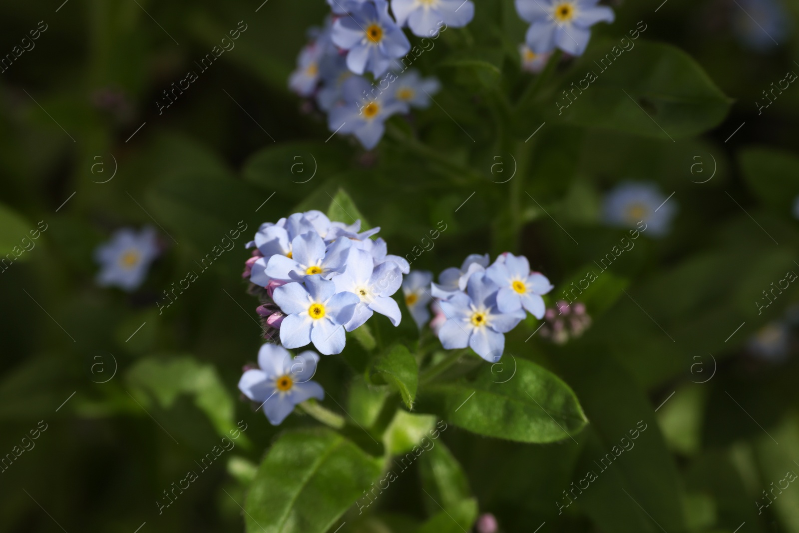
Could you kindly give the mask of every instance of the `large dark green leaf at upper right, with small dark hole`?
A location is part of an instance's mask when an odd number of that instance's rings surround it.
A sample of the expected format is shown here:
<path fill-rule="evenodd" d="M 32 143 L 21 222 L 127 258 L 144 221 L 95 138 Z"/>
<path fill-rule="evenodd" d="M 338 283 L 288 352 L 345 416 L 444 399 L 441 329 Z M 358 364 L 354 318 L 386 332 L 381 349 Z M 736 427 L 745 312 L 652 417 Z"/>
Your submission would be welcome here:
<path fill-rule="evenodd" d="M 592 42 L 574 74 L 539 98 L 544 119 L 666 141 L 702 133 L 724 119 L 730 99 L 690 55 L 664 43 L 631 42 L 628 51 L 618 42 Z"/>

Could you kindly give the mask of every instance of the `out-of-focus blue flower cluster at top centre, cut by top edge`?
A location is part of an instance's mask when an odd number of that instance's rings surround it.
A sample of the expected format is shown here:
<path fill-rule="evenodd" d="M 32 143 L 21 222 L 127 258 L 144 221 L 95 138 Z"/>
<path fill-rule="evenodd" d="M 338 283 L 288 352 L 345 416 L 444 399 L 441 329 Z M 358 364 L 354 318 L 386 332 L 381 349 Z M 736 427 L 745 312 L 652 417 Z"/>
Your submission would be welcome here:
<path fill-rule="evenodd" d="M 426 108 L 430 95 L 439 90 L 435 78 L 400 66 L 400 58 L 411 51 L 403 26 L 419 37 L 437 38 L 444 25 L 470 22 L 475 6 L 471 0 L 392 0 L 392 18 L 386 0 L 328 4 L 332 15 L 322 29 L 311 31 L 288 86 L 300 96 L 314 97 L 328 113 L 332 132 L 352 133 L 372 149 L 383 137 L 388 117 L 409 113 L 411 107 Z M 392 65 L 403 72 L 388 72 Z"/>

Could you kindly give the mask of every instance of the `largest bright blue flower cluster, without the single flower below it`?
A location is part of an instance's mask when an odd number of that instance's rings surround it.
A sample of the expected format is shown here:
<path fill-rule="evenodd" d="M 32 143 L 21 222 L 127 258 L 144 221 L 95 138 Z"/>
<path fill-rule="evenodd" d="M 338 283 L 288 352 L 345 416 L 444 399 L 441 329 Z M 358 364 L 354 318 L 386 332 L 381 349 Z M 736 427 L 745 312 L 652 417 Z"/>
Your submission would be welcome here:
<path fill-rule="evenodd" d="M 260 225 L 244 267 L 261 305 L 268 338 L 278 332 L 285 348 L 313 343 L 325 355 L 344 349 L 344 331 L 360 327 L 372 314 L 400 324 L 392 299 L 410 266 L 388 254 L 386 241 L 371 239 L 380 228 L 360 231 L 332 222 L 320 211 L 294 213 Z M 262 290 L 265 289 L 265 290 Z"/>

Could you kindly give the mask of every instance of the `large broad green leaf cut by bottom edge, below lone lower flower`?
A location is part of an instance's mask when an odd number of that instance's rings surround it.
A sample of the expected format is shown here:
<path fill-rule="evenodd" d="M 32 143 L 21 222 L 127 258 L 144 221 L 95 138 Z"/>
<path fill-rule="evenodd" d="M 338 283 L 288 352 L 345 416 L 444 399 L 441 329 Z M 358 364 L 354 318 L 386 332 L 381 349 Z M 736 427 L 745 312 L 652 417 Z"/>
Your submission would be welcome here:
<path fill-rule="evenodd" d="M 252 482 L 249 533 L 324 533 L 380 475 L 380 461 L 327 428 L 286 432 Z"/>

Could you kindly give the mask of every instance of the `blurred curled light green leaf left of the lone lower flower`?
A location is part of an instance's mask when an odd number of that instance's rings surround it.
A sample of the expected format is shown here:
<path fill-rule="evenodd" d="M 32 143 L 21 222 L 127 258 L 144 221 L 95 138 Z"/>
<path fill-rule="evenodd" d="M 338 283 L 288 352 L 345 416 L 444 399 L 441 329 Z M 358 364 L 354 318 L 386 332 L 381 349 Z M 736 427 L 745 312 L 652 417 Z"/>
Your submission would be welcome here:
<path fill-rule="evenodd" d="M 227 436 L 236 428 L 233 399 L 211 364 L 201 364 L 192 356 L 148 357 L 130 368 L 126 380 L 131 388 L 155 396 L 165 409 L 178 396 L 192 395 L 194 404 L 205 412 L 220 435 Z"/>

